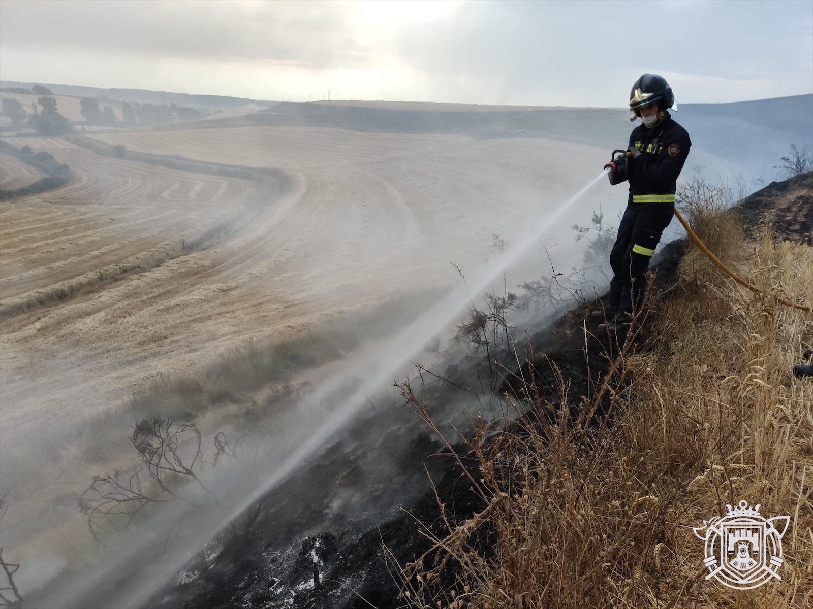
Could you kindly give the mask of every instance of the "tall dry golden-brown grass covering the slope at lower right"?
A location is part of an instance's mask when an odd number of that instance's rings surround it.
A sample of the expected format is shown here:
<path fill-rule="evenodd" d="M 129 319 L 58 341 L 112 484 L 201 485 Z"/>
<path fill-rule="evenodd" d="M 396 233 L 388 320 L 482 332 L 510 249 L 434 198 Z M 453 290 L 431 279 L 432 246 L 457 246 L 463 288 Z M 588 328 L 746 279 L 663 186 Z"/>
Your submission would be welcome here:
<path fill-rule="evenodd" d="M 728 261 L 766 295 L 813 302 L 813 248 L 768 230 L 749 255 L 738 227 L 709 216 L 698 209 L 695 221 L 710 246 L 738 236 Z M 613 362 L 611 425 L 569 425 L 529 378 L 537 397 L 508 399 L 527 412 L 519 429 L 476 430 L 468 482 L 487 508 L 460 524 L 441 505 L 446 537 L 429 535 L 433 549 L 403 571 L 409 606 L 813 606 L 813 382 L 791 374 L 813 319 L 716 272 L 698 281 L 698 264 L 684 261 L 643 348 Z M 745 591 L 706 581 L 693 533 L 741 499 L 792 517 L 782 581 Z"/>

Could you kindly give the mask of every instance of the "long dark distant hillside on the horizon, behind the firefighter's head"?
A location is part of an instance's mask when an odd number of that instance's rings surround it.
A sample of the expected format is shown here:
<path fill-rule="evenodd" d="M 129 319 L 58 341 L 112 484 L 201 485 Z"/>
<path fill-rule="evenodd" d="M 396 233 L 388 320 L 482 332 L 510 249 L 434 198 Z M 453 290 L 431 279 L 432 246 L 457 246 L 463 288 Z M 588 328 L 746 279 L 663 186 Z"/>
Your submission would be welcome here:
<path fill-rule="evenodd" d="M 394 107 L 393 107 L 394 106 Z M 446 107 L 459 109 L 450 110 Z M 473 136 L 536 135 L 603 143 L 606 136 L 628 136 L 627 110 L 523 106 L 458 106 L 394 102 L 283 102 L 258 114 L 211 122 L 207 127 L 256 125 L 313 126 L 363 132 L 466 133 Z M 741 151 L 744 137 L 780 133 L 798 145 L 813 139 L 813 95 L 754 102 L 683 104 L 674 118 L 695 142 Z M 714 135 L 712 135 L 714 134 Z M 790 141 L 788 144 L 791 143 Z"/>

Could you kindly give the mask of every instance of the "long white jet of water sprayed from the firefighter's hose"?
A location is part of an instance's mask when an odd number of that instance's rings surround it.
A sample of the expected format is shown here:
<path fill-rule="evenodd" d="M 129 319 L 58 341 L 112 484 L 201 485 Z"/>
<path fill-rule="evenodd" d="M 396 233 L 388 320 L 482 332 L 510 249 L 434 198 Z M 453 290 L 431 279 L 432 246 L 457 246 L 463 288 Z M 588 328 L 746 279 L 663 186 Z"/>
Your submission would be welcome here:
<path fill-rule="evenodd" d="M 137 533 L 128 536 L 130 540 L 128 544 L 111 548 L 110 554 L 102 558 L 103 567 L 98 572 L 81 581 L 76 580 L 59 586 L 59 590 L 52 591 L 47 600 L 41 603 L 41 607 L 45 609 L 76 607 L 78 609 L 94 604 L 98 606 L 98 601 L 93 603 L 99 595 L 94 594 L 94 591 L 105 585 L 111 585 L 111 582 L 112 585 L 115 585 L 115 592 L 101 593 L 106 600 L 110 599 L 111 606 L 115 606 L 117 609 L 142 607 L 186 564 L 193 552 L 198 551 L 215 538 L 254 502 L 268 495 L 275 486 L 294 473 L 306 460 L 315 456 L 316 452 L 324 447 L 330 438 L 344 429 L 369 404 L 371 395 L 379 391 L 385 384 L 391 383 L 393 375 L 397 373 L 398 369 L 406 365 L 415 353 L 420 352 L 429 339 L 448 327 L 454 318 L 471 304 L 472 298 L 485 292 L 489 285 L 499 278 L 500 274 L 526 253 L 533 244 L 536 244 L 555 222 L 563 218 L 576 201 L 610 171 L 610 168 L 605 167 L 585 188 L 576 192 L 553 214 L 549 214 L 537 222 L 522 239 L 506 248 L 488 266 L 476 271 L 467 281 L 467 287 L 461 287 L 451 292 L 397 335 L 385 339 L 362 356 L 356 356 L 348 369 L 321 382 L 308 397 L 309 404 L 327 404 L 332 397 L 335 399 L 337 391 L 347 387 L 348 378 L 363 379 L 350 391 L 350 395 L 341 399 L 337 407 L 333 408 L 320 425 L 298 447 L 290 451 L 279 464 L 276 464 L 276 467 L 261 484 L 246 495 L 241 503 L 237 504 L 228 514 L 212 522 L 211 527 L 207 527 L 205 530 L 204 527 L 198 527 L 197 533 L 191 538 L 186 538 L 182 546 L 179 543 L 178 547 L 170 548 L 159 559 L 152 559 L 149 569 L 142 569 L 142 572 L 138 572 L 136 575 L 133 573 L 135 570 L 133 564 L 137 564 L 139 555 L 146 552 L 151 544 L 166 537 L 168 530 L 164 530 L 162 527 L 171 526 L 176 517 L 181 517 L 181 510 L 188 508 L 188 506 L 169 504 L 165 508 L 165 511 L 168 510 L 168 514 L 163 512 L 156 514 L 150 522 L 140 525 Z M 361 374 L 362 372 L 365 374 Z M 225 477 L 228 476 L 228 472 L 221 470 L 217 475 Z M 149 533 L 145 534 L 146 531 Z M 138 564 L 138 567 L 140 566 Z M 128 572 L 130 577 L 124 581 L 122 581 L 124 578 L 115 581 L 115 574 L 122 571 Z M 112 604 L 114 599 L 115 604 Z"/>

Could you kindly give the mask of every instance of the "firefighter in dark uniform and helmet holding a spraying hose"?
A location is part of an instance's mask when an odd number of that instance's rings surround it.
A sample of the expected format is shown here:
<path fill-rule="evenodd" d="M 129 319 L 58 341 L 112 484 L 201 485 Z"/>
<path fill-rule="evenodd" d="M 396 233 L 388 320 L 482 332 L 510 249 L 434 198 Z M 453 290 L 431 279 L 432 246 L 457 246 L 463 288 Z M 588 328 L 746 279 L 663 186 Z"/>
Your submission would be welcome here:
<path fill-rule="evenodd" d="M 629 183 L 627 209 L 610 253 L 613 278 L 606 312 L 614 315 L 611 330 L 628 326 L 646 292 L 646 269 L 661 234 L 672 222 L 676 181 L 692 145 L 689 133 L 676 123 L 668 109 L 675 96 L 666 79 L 645 74 L 629 94 L 631 121 L 641 124 L 629 136 L 627 153 L 607 166 L 610 184 Z"/>

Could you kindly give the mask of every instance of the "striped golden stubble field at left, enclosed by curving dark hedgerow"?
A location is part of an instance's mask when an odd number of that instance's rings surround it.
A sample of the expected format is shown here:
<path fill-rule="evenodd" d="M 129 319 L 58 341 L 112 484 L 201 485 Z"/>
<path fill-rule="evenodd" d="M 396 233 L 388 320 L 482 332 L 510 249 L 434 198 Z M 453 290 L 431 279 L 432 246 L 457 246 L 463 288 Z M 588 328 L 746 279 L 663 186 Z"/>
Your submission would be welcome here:
<path fill-rule="evenodd" d="M 182 235 L 196 243 L 229 217 L 239 217 L 257 191 L 245 179 L 190 177 L 185 171 L 99 157 L 64 142 L 49 145 L 45 138 L 25 143 L 51 150 L 72 167 L 75 178 L 62 188 L 20 197 L 12 214 L 2 210 L 0 309 L 6 313 L 21 310 L 14 303 L 27 294 L 31 302 L 42 302 L 51 292 L 87 289 L 94 268 L 102 285 L 115 276 L 103 269 L 117 261 L 123 263 L 122 277 L 163 264 L 163 244 L 179 239 L 183 244 Z M 150 254 L 154 248 L 158 253 Z M 188 253 L 171 249 L 171 257 Z"/>

